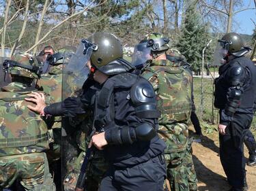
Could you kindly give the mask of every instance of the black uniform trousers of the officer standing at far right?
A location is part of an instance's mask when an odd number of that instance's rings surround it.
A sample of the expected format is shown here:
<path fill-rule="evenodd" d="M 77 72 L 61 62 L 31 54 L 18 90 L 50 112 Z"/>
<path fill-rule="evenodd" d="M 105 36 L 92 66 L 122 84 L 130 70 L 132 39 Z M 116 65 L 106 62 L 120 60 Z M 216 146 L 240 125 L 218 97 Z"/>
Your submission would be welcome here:
<path fill-rule="evenodd" d="M 227 125 L 225 135 L 219 137 L 221 164 L 227 175 L 227 181 L 237 191 L 242 191 L 246 179 L 243 142 L 252 119 L 253 114 L 236 113 L 232 122 Z"/>

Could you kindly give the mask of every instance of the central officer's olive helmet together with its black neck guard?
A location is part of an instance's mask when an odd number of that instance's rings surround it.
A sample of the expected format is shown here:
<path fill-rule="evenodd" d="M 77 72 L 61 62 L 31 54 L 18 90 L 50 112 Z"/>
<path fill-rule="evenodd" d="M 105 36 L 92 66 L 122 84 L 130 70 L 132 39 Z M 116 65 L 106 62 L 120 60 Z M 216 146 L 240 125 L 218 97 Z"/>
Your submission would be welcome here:
<path fill-rule="evenodd" d="M 107 75 L 115 75 L 133 69 L 128 61 L 123 59 L 122 44 L 109 33 L 94 33 L 88 40 L 96 46 L 91 53 L 91 64 Z"/>

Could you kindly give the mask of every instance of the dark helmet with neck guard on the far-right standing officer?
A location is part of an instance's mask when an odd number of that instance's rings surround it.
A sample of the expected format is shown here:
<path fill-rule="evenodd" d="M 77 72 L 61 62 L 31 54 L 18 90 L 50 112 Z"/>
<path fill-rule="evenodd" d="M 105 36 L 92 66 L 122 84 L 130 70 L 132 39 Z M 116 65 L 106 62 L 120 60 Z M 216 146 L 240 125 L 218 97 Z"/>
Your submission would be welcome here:
<path fill-rule="evenodd" d="M 218 42 L 223 49 L 228 50 L 229 54 L 233 56 L 243 56 L 250 50 L 244 46 L 244 41 L 238 33 L 227 33 Z"/>

